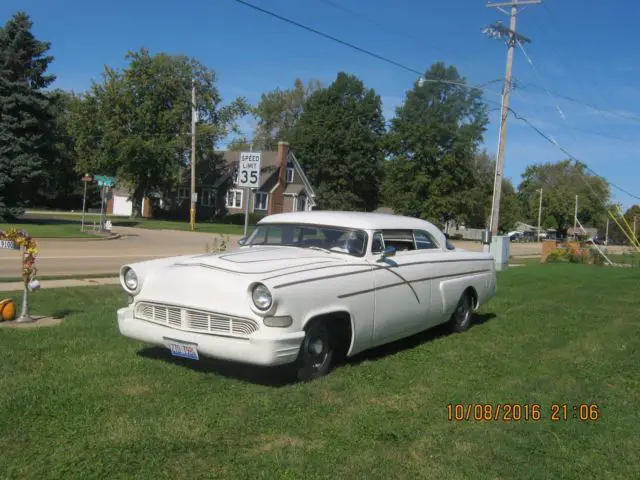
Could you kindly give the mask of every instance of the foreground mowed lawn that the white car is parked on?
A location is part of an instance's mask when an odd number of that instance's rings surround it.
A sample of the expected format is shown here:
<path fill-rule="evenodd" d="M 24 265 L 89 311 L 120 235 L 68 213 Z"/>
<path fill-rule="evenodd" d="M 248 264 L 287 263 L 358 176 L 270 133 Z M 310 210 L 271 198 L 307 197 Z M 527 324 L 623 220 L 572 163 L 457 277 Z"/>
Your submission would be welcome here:
<path fill-rule="evenodd" d="M 634 478 L 640 273 L 499 273 L 466 333 L 439 330 L 280 386 L 123 338 L 117 287 L 43 290 L 59 326 L 0 329 L 3 478 Z M 567 404 L 554 422 L 551 404 Z M 449 404 L 541 405 L 538 421 L 449 421 Z M 573 418 L 596 404 L 599 419 Z"/>

